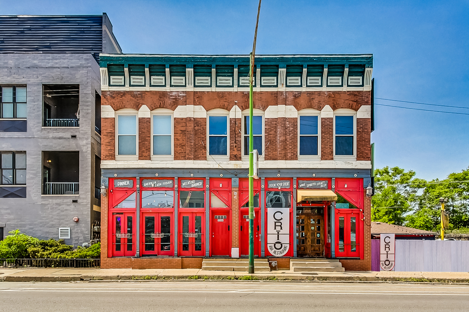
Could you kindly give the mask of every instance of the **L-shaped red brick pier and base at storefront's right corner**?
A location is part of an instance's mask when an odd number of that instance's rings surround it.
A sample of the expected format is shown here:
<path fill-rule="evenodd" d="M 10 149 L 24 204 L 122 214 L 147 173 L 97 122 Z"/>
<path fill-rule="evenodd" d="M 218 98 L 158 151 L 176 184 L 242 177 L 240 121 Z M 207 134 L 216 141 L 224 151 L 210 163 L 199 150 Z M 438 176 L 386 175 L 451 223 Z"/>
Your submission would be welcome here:
<path fill-rule="evenodd" d="M 340 260 L 342 267 L 347 271 L 371 271 L 371 199 L 363 194 L 363 260 Z"/>

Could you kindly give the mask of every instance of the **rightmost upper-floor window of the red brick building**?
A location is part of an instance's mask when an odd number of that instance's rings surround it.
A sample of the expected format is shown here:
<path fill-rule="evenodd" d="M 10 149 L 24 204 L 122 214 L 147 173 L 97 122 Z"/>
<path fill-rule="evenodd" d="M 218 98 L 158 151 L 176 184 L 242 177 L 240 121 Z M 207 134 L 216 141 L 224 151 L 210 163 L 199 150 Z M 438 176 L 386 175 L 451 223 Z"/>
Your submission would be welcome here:
<path fill-rule="evenodd" d="M 335 155 L 354 155 L 354 116 L 335 116 Z"/>

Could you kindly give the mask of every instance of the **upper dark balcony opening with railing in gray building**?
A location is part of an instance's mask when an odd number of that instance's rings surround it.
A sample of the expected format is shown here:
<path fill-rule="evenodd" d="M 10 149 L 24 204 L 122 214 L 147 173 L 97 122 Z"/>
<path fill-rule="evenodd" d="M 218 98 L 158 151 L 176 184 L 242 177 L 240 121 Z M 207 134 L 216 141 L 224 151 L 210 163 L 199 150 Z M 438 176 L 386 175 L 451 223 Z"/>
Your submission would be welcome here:
<path fill-rule="evenodd" d="M 80 85 L 43 85 L 43 126 L 78 127 Z"/>

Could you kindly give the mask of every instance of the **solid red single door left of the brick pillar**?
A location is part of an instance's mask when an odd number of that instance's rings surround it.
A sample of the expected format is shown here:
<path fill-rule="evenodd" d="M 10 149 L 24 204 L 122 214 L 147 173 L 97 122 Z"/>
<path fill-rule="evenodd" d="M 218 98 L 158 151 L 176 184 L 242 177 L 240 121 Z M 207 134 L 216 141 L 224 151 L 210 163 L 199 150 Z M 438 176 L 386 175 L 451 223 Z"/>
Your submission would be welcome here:
<path fill-rule="evenodd" d="M 230 255 L 230 210 L 212 210 L 212 256 Z"/>

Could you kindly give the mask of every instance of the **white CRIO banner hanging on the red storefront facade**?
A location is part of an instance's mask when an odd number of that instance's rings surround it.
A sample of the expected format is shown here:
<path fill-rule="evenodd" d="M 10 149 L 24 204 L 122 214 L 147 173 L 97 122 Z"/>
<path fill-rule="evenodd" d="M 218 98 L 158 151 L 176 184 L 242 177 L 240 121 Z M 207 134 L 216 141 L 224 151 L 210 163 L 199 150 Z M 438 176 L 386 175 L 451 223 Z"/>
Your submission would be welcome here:
<path fill-rule="evenodd" d="M 267 208 L 267 249 L 283 256 L 290 247 L 290 209 Z"/>

